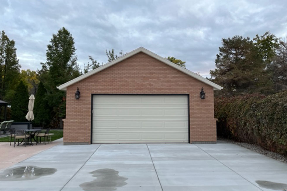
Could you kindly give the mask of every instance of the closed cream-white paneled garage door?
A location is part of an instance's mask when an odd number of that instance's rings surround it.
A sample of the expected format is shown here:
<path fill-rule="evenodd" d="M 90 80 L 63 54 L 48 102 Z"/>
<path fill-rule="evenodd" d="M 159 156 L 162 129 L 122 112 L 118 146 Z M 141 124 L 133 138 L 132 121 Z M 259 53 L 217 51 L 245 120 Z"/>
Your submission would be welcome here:
<path fill-rule="evenodd" d="M 94 95 L 93 143 L 188 143 L 187 95 Z"/>

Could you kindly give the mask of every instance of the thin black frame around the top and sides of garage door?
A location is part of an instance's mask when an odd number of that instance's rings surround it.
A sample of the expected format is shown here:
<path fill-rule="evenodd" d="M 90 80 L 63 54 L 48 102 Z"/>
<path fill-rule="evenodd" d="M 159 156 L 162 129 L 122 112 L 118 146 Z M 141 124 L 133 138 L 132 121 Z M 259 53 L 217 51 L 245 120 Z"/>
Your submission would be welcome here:
<path fill-rule="evenodd" d="M 93 143 L 93 102 L 94 95 L 186 95 L 187 96 L 187 104 L 188 104 L 188 143 L 190 143 L 190 113 L 189 113 L 189 94 L 136 94 L 136 93 L 92 93 L 91 94 L 91 144 Z"/>

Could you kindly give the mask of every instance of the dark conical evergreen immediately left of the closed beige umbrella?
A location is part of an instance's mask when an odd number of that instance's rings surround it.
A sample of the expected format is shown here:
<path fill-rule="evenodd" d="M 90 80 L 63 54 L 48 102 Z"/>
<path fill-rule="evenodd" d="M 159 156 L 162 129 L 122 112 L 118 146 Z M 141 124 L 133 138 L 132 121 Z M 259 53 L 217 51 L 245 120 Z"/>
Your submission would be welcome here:
<path fill-rule="evenodd" d="M 14 98 L 11 102 L 12 120 L 16 122 L 23 122 L 28 112 L 29 94 L 28 88 L 21 80 L 15 90 Z"/>

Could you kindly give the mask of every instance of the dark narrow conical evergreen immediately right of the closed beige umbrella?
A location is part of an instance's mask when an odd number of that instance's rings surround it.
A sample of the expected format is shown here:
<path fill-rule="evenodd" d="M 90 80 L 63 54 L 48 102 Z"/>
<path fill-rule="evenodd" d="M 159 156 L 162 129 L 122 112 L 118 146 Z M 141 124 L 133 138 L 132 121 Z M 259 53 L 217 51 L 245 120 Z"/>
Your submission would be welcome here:
<path fill-rule="evenodd" d="M 44 127 L 45 125 L 49 124 L 51 115 L 47 102 L 47 91 L 42 82 L 40 82 L 38 86 L 33 112 L 35 116 L 34 123 L 36 125 L 41 125 Z"/>

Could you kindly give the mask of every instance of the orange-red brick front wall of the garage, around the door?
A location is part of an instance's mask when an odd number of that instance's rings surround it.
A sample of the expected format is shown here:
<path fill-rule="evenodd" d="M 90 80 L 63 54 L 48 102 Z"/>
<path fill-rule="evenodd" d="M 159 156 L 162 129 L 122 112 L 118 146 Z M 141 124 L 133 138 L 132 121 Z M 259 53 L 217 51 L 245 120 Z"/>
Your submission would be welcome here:
<path fill-rule="evenodd" d="M 75 100 L 79 87 L 81 97 Z M 201 88 L 206 93 L 200 99 Z M 138 53 L 67 87 L 64 143 L 91 143 L 91 94 L 189 94 L 190 141 L 215 142 L 213 87 Z"/>

